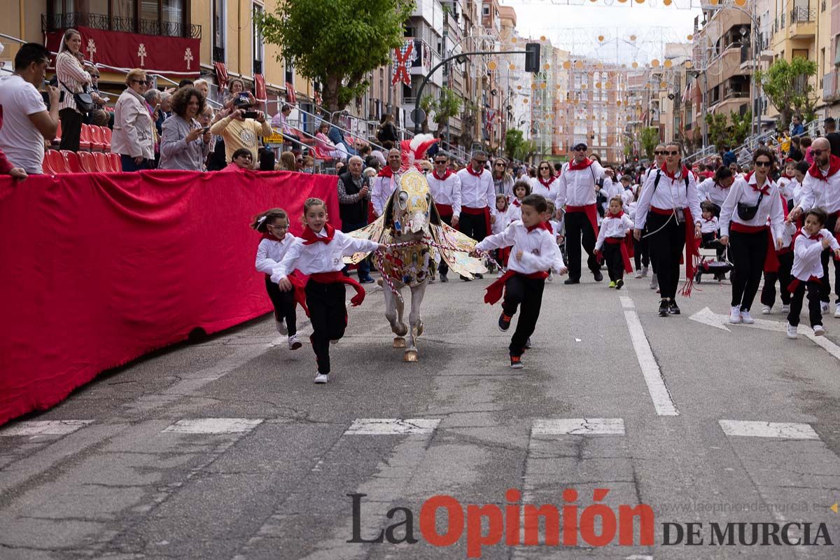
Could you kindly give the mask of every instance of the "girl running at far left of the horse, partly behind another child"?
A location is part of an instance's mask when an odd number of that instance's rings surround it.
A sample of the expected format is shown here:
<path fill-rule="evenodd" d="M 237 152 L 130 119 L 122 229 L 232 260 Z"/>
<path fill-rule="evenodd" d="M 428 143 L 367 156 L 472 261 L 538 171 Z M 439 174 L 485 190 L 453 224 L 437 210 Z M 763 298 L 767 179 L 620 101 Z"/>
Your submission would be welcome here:
<path fill-rule="evenodd" d="M 277 332 L 289 337 L 289 349 L 297 350 L 303 344 L 297 340 L 297 314 L 295 295 L 291 291 L 281 291 L 271 281 L 271 273 L 277 264 L 286 256 L 289 248 L 297 238 L 289 233 L 289 217 L 282 208 L 271 208 L 254 217 L 251 224 L 262 233 L 260 244 L 257 246 L 257 272 L 265 275 L 265 290 L 271 303 L 274 304 L 274 319 Z"/>

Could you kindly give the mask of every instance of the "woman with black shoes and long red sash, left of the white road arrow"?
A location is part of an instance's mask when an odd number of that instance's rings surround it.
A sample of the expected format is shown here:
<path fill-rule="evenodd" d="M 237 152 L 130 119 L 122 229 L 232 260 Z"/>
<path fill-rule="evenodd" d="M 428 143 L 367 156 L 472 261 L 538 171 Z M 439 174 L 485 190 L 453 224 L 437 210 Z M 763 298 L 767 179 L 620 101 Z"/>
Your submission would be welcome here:
<path fill-rule="evenodd" d="M 659 317 L 679 315 L 675 301 L 680 284 L 680 254 L 685 248 L 686 277 L 694 275 L 693 258 L 697 255 L 695 239 L 701 237 L 700 199 L 694 174 L 682 163 L 682 146 L 665 146 L 661 169 L 648 175 L 636 208 L 633 237 L 642 238 L 648 228 L 650 259 L 659 277 Z M 693 235 L 692 235 L 693 233 Z"/>

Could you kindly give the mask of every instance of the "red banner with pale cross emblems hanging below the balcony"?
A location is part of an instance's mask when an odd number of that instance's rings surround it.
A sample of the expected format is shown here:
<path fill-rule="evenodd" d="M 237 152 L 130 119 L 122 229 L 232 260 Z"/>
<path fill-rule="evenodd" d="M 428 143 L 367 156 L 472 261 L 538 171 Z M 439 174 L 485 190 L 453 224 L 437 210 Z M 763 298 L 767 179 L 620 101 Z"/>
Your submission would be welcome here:
<path fill-rule="evenodd" d="M 85 60 L 116 68 L 143 68 L 155 74 L 198 76 L 201 39 L 78 28 Z M 47 48 L 58 52 L 63 31 L 47 35 Z"/>

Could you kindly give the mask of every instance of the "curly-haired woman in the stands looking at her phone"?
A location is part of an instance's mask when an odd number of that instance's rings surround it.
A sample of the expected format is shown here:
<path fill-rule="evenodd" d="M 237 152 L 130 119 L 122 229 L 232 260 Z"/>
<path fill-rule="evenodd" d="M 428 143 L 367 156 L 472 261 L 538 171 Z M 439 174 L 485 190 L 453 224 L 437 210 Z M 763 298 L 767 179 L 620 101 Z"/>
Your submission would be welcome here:
<path fill-rule="evenodd" d="M 172 95 L 172 116 L 163 123 L 160 169 L 201 171 L 210 153 L 210 128 L 196 120 L 204 111 L 204 96 L 195 87 L 181 87 Z"/>

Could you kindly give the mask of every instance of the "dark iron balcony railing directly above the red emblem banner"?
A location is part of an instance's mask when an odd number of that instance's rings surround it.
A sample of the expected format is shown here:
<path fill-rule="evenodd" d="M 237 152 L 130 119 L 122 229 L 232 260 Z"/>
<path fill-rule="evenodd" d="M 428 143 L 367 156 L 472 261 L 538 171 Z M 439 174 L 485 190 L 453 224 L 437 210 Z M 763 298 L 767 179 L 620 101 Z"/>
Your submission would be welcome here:
<path fill-rule="evenodd" d="M 104 31 L 162 35 L 166 37 L 202 38 L 201 25 L 187 25 L 183 22 L 121 18 L 118 16 L 111 16 L 109 18 L 102 13 L 87 12 L 54 13 L 52 15 L 46 13 L 41 14 L 41 30 L 44 33 L 79 27 L 102 29 Z"/>

